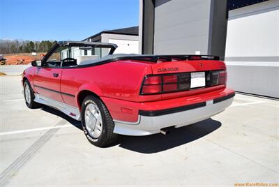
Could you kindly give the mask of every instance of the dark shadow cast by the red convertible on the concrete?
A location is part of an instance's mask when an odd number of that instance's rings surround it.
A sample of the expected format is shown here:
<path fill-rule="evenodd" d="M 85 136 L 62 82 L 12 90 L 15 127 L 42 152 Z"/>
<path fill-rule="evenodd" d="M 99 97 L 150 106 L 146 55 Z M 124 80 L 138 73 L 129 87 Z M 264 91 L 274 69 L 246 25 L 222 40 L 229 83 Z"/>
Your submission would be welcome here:
<path fill-rule="evenodd" d="M 82 124 L 80 121 L 76 121 L 75 119 L 68 117 L 66 114 L 63 114 L 63 112 L 45 105 L 40 109 L 59 116 L 76 128 L 82 130 Z M 121 135 L 117 142 L 110 144 L 104 149 L 110 149 L 110 147 L 118 146 L 123 149 L 128 149 L 142 154 L 154 154 L 198 140 L 199 138 L 212 133 L 214 130 L 217 130 L 220 126 L 222 126 L 222 124 L 219 121 L 206 119 L 189 126 L 173 128 L 167 135 L 160 133 L 147 136 Z"/>

